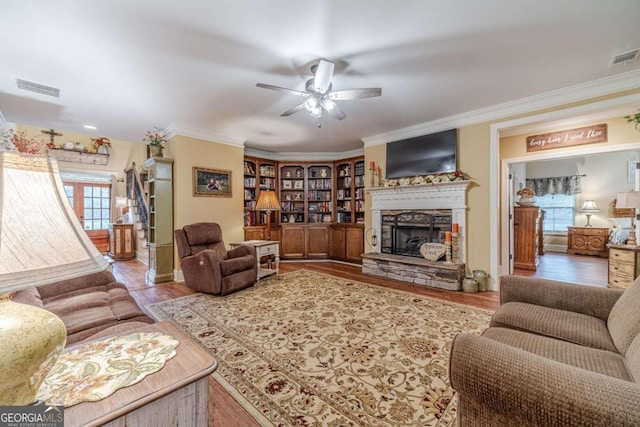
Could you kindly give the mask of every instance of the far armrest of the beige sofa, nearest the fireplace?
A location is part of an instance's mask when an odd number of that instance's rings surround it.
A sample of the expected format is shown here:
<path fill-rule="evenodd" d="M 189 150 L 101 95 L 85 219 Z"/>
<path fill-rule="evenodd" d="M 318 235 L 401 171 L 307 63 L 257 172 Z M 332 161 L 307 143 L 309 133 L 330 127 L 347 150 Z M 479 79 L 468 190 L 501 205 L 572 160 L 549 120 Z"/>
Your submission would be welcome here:
<path fill-rule="evenodd" d="M 609 317 L 624 290 L 525 276 L 503 276 L 500 303 L 524 302 L 600 318 Z"/>

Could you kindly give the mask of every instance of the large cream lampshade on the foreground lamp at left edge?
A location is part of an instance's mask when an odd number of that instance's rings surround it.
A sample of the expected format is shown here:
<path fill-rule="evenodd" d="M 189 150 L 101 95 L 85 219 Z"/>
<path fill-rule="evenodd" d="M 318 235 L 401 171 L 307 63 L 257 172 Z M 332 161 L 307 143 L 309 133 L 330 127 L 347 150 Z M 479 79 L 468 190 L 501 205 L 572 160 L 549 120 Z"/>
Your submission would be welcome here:
<path fill-rule="evenodd" d="M 53 158 L 0 152 L 0 293 L 105 270 Z"/>

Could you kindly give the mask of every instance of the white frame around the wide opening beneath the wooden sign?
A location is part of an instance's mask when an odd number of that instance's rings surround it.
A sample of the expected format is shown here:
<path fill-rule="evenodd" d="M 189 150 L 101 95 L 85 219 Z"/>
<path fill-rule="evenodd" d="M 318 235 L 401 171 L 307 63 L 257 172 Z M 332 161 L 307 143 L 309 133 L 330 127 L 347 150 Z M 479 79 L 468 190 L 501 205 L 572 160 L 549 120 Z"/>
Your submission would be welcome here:
<path fill-rule="evenodd" d="M 548 113 L 536 114 L 490 125 L 489 140 L 489 230 L 490 230 L 490 274 L 492 280 L 491 289 L 498 290 L 499 280 L 502 275 L 509 274 L 509 201 L 508 201 L 508 170 L 511 163 L 519 163 L 534 160 L 558 159 L 576 155 L 588 155 L 611 151 L 633 150 L 640 148 L 640 142 L 630 144 L 616 144 L 611 146 L 576 148 L 571 151 L 549 152 L 531 156 L 515 157 L 500 160 L 500 132 L 510 128 L 529 125 L 531 129 L 542 126 L 545 122 L 554 120 L 570 120 L 580 116 L 588 116 L 589 120 L 603 120 L 611 117 L 619 117 L 613 110 L 626 109 L 630 111 L 640 105 L 640 94 L 622 96 L 590 104 L 570 107 Z M 506 179 L 506 181 L 505 181 Z M 502 191 L 500 190 L 502 188 Z"/>

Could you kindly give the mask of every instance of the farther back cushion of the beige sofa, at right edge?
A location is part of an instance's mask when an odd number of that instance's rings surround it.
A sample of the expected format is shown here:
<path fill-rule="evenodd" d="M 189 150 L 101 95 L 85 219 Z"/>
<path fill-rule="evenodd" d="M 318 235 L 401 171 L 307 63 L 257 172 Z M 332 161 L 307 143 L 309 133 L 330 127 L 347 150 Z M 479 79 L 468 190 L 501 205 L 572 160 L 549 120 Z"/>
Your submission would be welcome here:
<path fill-rule="evenodd" d="M 609 313 L 607 326 L 611 338 L 624 355 L 638 334 L 640 333 L 640 277 L 638 277 L 615 303 Z"/>

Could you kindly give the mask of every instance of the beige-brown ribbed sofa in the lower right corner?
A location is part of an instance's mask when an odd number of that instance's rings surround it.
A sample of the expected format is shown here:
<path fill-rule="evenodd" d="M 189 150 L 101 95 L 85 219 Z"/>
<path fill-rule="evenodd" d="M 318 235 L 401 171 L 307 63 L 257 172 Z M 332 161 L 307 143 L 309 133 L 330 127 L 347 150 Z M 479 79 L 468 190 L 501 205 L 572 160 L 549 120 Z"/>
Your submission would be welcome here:
<path fill-rule="evenodd" d="M 640 279 L 626 291 L 505 276 L 450 360 L 461 426 L 640 425 Z"/>

